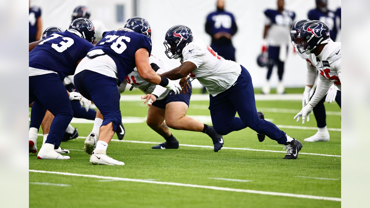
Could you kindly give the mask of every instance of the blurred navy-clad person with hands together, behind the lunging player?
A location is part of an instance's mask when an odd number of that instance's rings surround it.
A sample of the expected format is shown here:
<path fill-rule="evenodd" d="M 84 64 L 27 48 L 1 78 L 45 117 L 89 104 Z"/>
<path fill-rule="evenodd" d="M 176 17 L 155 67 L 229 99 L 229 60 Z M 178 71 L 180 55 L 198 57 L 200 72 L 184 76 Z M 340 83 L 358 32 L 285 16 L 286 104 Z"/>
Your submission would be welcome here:
<path fill-rule="evenodd" d="M 235 48 L 231 38 L 238 31 L 235 17 L 225 11 L 225 0 L 217 0 L 217 10 L 208 14 L 205 30 L 211 38 L 211 48 L 226 60 L 235 61 Z M 203 87 L 202 93 L 205 93 Z"/>

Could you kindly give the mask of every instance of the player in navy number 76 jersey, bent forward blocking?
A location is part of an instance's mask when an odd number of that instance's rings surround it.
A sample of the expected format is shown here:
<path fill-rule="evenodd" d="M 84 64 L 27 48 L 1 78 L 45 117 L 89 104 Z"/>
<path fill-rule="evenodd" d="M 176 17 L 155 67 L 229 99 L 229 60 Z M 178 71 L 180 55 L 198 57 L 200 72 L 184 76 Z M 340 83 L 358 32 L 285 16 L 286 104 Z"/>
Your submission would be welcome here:
<path fill-rule="evenodd" d="M 123 29 L 106 31 L 102 40 L 90 50 L 78 64 L 74 83 L 77 90 L 100 110 L 103 121 L 99 129 L 99 141 L 92 135 L 85 140 L 84 150 L 91 154 L 92 164 L 124 165 L 107 152 L 108 143 L 121 124 L 120 85 L 125 77 L 137 68 L 139 75 L 152 84 L 159 84 L 175 94 L 181 86 L 168 78 L 160 77 L 152 70 L 149 56 L 152 50 L 151 28 L 147 20 L 132 17 Z M 96 144 L 96 147 L 95 147 Z M 95 148 L 95 149 L 94 149 Z"/>

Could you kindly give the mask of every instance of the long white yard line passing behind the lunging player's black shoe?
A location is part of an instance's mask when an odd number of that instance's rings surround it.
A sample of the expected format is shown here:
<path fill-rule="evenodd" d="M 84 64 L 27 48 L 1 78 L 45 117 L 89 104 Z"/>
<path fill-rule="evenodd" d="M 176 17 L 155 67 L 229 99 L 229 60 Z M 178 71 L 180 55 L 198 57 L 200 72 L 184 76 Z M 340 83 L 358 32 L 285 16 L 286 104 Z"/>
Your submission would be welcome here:
<path fill-rule="evenodd" d="M 42 136 L 42 134 L 37 134 L 39 136 Z M 78 137 L 79 139 L 85 139 L 86 137 Z M 130 142 L 130 143 L 141 143 L 141 144 L 160 144 L 161 142 L 150 142 L 150 141 L 134 141 L 134 140 L 115 140 L 112 139 L 112 141 L 118 141 L 118 142 Z M 213 149 L 213 146 L 206 146 L 206 145 L 194 145 L 194 144 L 179 144 L 180 146 L 184 147 L 201 147 L 201 148 L 211 148 Z M 283 145 L 281 145 L 283 147 Z M 229 149 L 229 150 L 249 150 L 249 151 L 258 151 L 258 152 L 282 152 L 286 153 L 286 151 L 275 151 L 275 150 L 255 150 L 251 149 L 249 147 L 244 148 L 236 148 L 236 147 L 222 147 L 222 149 Z M 316 154 L 316 153 L 307 153 L 307 152 L 299 152 L 299 154 L 303 155 L 320 155 L 320 156 L 328 156 L 328 157 L 342 157 L 340 155 L 327 155 L 327 154 Z"/>

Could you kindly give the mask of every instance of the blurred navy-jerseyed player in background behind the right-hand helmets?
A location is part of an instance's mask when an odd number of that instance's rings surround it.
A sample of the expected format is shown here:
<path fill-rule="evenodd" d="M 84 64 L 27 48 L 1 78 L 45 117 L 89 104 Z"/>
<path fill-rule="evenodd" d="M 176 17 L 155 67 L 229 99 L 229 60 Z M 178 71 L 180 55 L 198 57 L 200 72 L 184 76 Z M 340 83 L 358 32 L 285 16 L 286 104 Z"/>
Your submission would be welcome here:
<path fill-rule="evenodd" d="M 327 9 L 327 0 L 316 0 L 316 9 L 308 12 L 308 19 L 325 23 L 329 27 L 330 38 L 336 41 L 338 32 L 336 14 L 334 11 Z"/>

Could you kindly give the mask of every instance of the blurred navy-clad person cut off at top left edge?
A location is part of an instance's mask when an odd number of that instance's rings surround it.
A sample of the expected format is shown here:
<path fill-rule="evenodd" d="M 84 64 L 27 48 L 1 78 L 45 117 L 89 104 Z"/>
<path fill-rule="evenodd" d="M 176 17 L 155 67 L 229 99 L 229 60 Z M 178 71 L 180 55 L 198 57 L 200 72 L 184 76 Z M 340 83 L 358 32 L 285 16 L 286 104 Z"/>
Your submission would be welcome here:
<path fill-rule="evenodd" d="M 28 3 L 31 3 L 28 1 Z M 42 31 L 41 9 L 28 4 L 28 43 L 40 40 Z"/>

